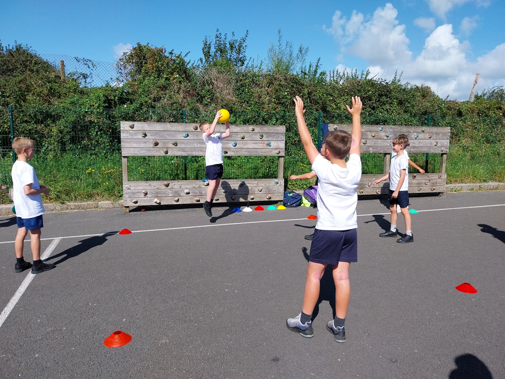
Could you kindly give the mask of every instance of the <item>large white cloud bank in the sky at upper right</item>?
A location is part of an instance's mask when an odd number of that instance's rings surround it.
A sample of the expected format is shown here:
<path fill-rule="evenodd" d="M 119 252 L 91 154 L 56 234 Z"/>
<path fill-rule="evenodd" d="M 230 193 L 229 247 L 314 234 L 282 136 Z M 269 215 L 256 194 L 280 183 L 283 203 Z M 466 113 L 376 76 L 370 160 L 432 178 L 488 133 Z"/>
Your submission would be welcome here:
<path fill-rule="evenodd" d="M 407 27 L 399 24 L 397 15 L 390 3 L 377 8 L 367 19 L 353 11 L 347 20 L 336 11 L 332 26 L 323 29 L 338 41 L 339 53 L 364 59 L 373 75 L 390 80 L 395 72 L 403 72 L 403 82 L 428 85 L 441 98 L 448 95 L 450 99 L 467 100 L 477 73 L 480 74 L 477 90 L 505 85 L 505 43 L 471 62 L 467 59 L 470 43 L 460 41 L 451 24 L 443 24 L 430 33 L 423 50 L 414 57 L 409 49 Z M 470 32 L 473 27 L 470 23 L 466 30 Z M 345 66 L 338 67 L 341 71 Z"/>

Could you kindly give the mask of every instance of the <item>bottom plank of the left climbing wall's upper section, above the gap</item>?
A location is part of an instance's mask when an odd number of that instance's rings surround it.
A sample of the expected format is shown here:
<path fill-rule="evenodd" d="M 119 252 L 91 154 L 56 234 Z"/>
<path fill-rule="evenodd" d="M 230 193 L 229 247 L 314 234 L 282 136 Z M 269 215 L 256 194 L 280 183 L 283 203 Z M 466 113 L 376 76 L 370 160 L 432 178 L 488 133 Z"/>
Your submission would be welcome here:
<path fill-rule="evenodd" d="M 172 147 L 167 149 L 165 154 L 163 149 L 159 148 L 122 148 L 121 155 L 123 156 L 205 156 L 205 148 L 179 148 Z M 225 151 L 227 153 L 225 153 Z M 277 154 L 276 152 L 279 152 Z M 268 148 L 268 149 L 223 149 L 223 155 L 228 156 L 284 156 L 284 149 Z"/>

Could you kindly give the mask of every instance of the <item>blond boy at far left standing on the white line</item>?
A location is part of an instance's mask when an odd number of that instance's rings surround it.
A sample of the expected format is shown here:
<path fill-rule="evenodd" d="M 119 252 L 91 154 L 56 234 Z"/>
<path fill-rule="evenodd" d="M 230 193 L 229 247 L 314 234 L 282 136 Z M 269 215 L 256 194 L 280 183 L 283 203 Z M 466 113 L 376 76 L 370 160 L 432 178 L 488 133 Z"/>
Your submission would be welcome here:
<path fill-rule="evenodd" d="M 42 214 L 44 206 L 40 194 L 49 195 L 49 188 L 38 183 L 37 174 L 28 160 L 33 158 L 34 141 L 30 138 L 16 137 L 12 143 L 12 150 L 17 154 L 18 159 L 12 166 L 12 187 L 14 207 L 16 208 L 16 219 L 18 222 L 18 233 L 14 249 L 16 250 L 16 265 L 14 270 L 22 272 L 31 267 L 32 274 L 51 270 L 52 263 L 44 263 L 40 260 L 40 233 L 44 226 Z M 30 230 L 30 245 L 33 255 L 33 265 L 25 262 L 23 258 L 23 247 L 26 235 Z"/>

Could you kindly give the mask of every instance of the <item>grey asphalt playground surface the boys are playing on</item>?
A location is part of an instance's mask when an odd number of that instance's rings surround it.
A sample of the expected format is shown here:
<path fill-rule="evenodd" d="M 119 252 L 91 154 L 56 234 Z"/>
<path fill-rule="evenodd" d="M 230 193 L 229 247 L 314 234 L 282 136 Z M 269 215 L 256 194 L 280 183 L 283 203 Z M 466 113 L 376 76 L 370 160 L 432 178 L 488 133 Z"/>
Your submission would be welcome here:
<path fill-rule="evenodd" d="M 325 329 L 328 272 L 315 336 L 285 325 L 301 310 L 315 209 L 47 213 L 41 251 L 53 244 L 57 267 L 33 277 L 0 326 L 0 378 L 503 378 L 500 204 L 503 191 L 412 198 L 435 211 L 413 214 L 415 241 L 401 245 L 378 237 L 385 202 L 360 200 L 344 344 Z M 14 272 L 16 230 L 0 219 L 0 310 L 31 275 Z M 462 282 L 478 293 L 457 291 Z M 105 347 L 114 330 L 132 341 Z"/>

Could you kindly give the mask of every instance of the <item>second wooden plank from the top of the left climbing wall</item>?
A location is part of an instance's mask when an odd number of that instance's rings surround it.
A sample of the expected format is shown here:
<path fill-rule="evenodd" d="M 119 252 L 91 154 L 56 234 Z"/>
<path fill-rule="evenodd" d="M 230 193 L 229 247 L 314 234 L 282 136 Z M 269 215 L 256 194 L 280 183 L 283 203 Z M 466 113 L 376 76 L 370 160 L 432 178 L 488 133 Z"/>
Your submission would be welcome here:
<path fill-rule="evenodd" d="M 203 140 L 203 133 L 200 131 L 187 131 L 188 136 L 183 137 L 184 132 L 180 131 L 162 131 L 162 130 L 151 130 L 146 131 L 146 137 L 142 137 L 142 130 L 121 130 L 121 140 L 128 139 L 174 139 L 174 140 Z M 263 140 L 263 141 L 283 141 L 285 139 L 285 133 L 259 133 L 259 132 L 236 132 L 231 133 L 230 136 L 224 141 L 230 139 L 240 139 L 240 134 L 244 134 L 245 140 Z M 263 138 L 260 135 L 263 134 Z"/>

